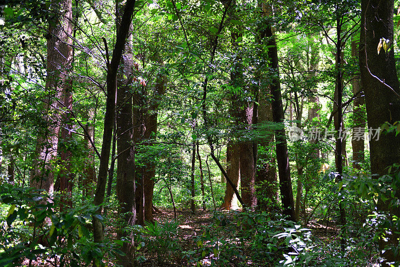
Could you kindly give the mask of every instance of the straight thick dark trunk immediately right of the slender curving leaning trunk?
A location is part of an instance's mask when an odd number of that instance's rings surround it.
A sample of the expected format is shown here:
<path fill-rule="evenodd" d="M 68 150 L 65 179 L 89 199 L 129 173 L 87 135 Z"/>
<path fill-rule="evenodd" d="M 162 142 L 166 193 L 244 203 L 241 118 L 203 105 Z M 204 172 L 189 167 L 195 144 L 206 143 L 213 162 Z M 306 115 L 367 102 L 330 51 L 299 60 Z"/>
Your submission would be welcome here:
<path fill-rule="evenodd" d="M 125 7 L 127 8 L 127 6 Z M 119 22 L 119 17 L 117 18 Z M 118 25 L 117 26 L 122 26 Z M 133 26 L 129 21 L 129 31 Z M 135 146 L 133 144 L 132 94 L 130 93 L 133 72 L 132 35 L 128 33 L 124 53 L 121 58 L 116 94 L 116 197 L 119 202 L 118 215 L 124 225 L 117 231 L 117 239 L 127 238 L 122 245 L 124 256 L 119 258 L 122 266 L 133 266 L 133 232 L 125 230 L 136 220 L 135 205 Z"/>

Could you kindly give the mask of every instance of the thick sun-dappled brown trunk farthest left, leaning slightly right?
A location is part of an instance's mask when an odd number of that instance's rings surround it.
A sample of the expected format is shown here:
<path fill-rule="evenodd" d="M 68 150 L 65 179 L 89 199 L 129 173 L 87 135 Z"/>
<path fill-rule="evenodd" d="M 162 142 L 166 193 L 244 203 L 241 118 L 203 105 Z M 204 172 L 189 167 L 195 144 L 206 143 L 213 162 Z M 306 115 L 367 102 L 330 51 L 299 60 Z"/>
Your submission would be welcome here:
<path fill-rule="evenodd" d="M 68 72 L 71 67 L 72 49 L 69 36 L 72 34 L 72 0 L 51 0 L 51 10 L 55 13 L 54 23 L 50 23 L 47 34 L 47 77 L 48 97 L 43 100 L 47 123 L 44 134 L 37 137 L 36 154 L 30 174 L 30 186 L 44 189 L 48 194 L 54 190 L 52 163 L 57 156 L 60 123 L 59 108 L 70 88 Z"/>

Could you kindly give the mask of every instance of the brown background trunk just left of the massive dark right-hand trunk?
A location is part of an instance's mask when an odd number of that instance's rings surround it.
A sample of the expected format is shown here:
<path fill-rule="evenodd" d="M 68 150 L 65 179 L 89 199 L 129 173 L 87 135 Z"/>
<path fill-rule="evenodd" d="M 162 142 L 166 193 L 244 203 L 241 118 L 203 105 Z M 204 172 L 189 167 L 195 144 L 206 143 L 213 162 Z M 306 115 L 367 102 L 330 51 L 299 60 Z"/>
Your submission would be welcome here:
<path fill-rule="evenodd" d="M 354 60 L 358 58 L 358 42 L 353 40 L 351 41 L 351 57 Z M 361 168 L 361 163 L 364 162 L 364 135 L 360 136 L 360 133 L 363 134 L 365 131 L 365 112 L 363 109 L 364 101 L 364 93 L 361 87 L 361 76 L 354 75 L 353 80 L 351 82 L 353 94 L 356 95 L 356 98 L 353 100 L 353 137 L 351 139 L 351 146 L 353 150 L 353 167 L 356 169 Z"/>

